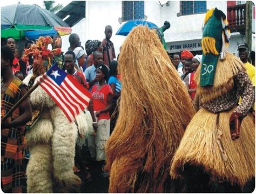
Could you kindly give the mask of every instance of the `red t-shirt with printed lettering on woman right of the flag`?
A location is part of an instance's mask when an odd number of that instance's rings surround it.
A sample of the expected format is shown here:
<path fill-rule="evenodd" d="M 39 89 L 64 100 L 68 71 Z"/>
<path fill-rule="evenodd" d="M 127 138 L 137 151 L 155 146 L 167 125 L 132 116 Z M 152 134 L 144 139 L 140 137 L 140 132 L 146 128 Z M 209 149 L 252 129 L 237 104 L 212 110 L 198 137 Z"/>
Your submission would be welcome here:
<path fill-rule="evenodd" d="M 107 96 L 113 94 L 112 89 L 109 84 L 104 85 L 102 89 L 97 91 L 98 84 L 93 85 L 92 87 L 92 102 L 94 111 L 100 111 L 105 109 L 107 105 Z M 110 119 L 109 112 L 101 113 L 98 117 L 100 119 Z"/>

